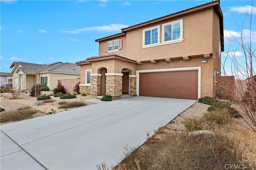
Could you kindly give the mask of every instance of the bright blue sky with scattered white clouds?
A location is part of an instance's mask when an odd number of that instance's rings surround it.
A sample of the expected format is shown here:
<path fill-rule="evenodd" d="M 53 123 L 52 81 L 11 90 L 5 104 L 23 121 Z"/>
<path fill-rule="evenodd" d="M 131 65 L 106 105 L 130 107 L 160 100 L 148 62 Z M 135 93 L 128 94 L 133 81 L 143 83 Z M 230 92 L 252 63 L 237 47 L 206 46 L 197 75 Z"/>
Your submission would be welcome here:
<path fill-rule="evenodd" d="M 121 28 L 208 3 L 204 0 L 174 1 L 0 1 L 1 72 L 10 72 L 14 61 L 48 64 L 75 63 L 98 55 L 95 39 L 121 32 Z M 245 9 L 253 1 L 221 0 L 224 14 L 225 48 L 228 38 L 240 37 Z M 256 42 L 256 2 L 253 2 L 252 36 Z M 238 25 L 236 24 L 238 23 Z M 244 23 L 244 36 L 250 29 Z M 230 54 L 232 53 L 229 50 Z M 222 53 L 222 57 L 226 52 Z M 236 51 L 237 57 L 241 56 Z"/>

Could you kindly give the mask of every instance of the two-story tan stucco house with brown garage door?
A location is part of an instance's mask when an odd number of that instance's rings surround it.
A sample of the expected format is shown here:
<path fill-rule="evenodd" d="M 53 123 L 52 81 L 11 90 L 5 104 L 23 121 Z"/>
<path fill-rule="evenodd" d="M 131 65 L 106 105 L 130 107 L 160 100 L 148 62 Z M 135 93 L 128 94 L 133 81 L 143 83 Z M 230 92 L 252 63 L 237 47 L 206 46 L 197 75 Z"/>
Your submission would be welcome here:
<path fill-rule="evenodd" d="M 96 39 L 99 56 L 76 62 L 80 92 L 197 100 L 214 96 L 224 51 L 220 1 Z"/>

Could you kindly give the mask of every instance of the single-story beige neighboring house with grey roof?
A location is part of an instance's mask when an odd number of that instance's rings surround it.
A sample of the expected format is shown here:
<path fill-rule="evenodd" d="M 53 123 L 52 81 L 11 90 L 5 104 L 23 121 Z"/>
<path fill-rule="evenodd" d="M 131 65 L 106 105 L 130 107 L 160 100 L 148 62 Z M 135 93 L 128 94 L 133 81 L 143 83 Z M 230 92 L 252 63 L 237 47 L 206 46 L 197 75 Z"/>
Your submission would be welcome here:
<path fill-rule="evenodd" d="M 12 72 L 13 87 L 19 89 L 31 89 L 36 83 L 36 77 L 40 84 L 47 84 L 53 90 L 58 80 L 80 78 L 80 66 L 74 63 L 34 64 L 14 62 L 10 66 Z"/>

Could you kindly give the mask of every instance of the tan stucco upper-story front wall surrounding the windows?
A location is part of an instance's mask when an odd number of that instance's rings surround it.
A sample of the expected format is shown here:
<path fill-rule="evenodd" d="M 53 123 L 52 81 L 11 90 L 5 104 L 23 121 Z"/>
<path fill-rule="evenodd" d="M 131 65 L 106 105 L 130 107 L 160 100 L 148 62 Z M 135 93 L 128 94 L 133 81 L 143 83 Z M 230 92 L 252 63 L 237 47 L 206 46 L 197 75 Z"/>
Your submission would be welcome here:
<path fill-rule="evenodd" d="M 165 59 L 212 53 L 212 18 L 213 10 L 202 10 L 191 15 L 179 16 L 169 20 L 146 25 L 138 29 L 126 32 L 126 49 L 115 52 L 118 55 L 130 57 L 136 61 Z M 162 42 L 162 24 L 183 19 L 183 39 L 180 43 L 160 45 L 156 47 L 142 48 L 143 29 L 160 25 L 160 42 Z M 218 25 L 217 25 L 218 26 Z M 116 38 L 113 38 L 114 40 Z M 108 41 L 110 41 L 109 39 Z M 125 41 L 125 39 L 124 39 Z M 106 41 L 99 44 L 99 55 L 107 55 L 104 52 Z M 124 45 L 123 45 L 124 47 Z"/>

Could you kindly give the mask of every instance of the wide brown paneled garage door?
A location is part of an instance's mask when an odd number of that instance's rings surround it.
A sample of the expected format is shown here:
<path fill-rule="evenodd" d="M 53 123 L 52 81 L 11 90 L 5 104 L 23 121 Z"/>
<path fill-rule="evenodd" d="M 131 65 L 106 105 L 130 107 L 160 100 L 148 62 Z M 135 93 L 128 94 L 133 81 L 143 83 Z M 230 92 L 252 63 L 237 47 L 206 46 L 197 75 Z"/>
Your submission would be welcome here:
<path fill-rule="evenodd" d="M 198 70 L 140 73 L 139 96 L 198 99 Z"/>

